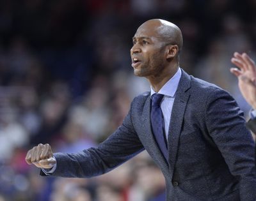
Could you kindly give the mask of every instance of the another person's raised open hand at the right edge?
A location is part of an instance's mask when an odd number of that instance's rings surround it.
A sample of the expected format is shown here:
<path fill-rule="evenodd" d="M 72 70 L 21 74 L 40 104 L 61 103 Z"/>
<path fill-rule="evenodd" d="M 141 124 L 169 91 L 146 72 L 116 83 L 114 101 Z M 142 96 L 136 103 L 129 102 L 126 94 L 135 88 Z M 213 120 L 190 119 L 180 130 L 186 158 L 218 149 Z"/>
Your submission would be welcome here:
<path fill-rule="evenodd" d="M 241 93 L 253 109 L 256 109 L 256 65 L 254 61 L 246 53 L 235 52 L 231 62 L 239 68 L 231 68 L 230 71 L 238 78 Z"/>

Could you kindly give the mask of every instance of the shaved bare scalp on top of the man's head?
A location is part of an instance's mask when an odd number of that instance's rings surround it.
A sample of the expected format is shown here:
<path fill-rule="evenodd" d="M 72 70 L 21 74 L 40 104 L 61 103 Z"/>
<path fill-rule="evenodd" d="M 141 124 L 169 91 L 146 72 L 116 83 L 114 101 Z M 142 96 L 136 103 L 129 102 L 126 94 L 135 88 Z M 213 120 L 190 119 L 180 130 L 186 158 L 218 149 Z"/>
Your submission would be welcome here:
<path fill-rule="evenodd" d="M 152 19 L 144 22 L 137 31 L 152 30 L 157 38 L 161 38 L 166 45 L 178 45 L 179 52 L 182 49 L 182 33 L 178 26 L 172 22 L 161 19 Z"/>

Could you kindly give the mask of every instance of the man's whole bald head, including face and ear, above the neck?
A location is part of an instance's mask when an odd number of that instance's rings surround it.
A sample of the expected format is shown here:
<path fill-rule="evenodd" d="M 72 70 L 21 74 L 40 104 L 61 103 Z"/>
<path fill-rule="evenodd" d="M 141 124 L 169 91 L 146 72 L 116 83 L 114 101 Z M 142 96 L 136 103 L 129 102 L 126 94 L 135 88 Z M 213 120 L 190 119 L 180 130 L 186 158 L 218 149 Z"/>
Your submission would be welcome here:
<path fill-rule="evenodd" d="M 159 78 L 170 79 L 178 70 L 182 34 L 175 24 L 160 19 L 148 20 L 138 27 L 132 43 L 135 75 L 147 77 L 151 84 L 156 84 Z"/>

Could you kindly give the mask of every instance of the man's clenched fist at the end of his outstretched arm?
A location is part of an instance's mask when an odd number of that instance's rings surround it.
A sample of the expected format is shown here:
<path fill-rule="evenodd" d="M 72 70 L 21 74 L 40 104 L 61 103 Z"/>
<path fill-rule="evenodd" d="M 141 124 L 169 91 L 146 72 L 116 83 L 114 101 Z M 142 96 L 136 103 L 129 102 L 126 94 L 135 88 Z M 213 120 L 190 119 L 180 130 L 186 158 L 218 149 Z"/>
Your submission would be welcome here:
<path fill-rule="evenodd" d="M 26 156 L 26 162 L 34 164 L 38 168 L 49 169 L 56 163 L 53 157 L 52 149 L 49 144 L 38 144 L 33 149 L 30 149 Z"/>

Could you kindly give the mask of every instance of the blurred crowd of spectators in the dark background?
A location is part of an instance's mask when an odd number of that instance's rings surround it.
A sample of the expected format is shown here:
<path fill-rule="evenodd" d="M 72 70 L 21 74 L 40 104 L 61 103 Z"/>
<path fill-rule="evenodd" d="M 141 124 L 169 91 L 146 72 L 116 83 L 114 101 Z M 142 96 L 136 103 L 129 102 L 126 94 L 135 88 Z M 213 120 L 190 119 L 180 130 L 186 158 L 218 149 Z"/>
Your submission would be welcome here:
<path fill-rule="evenodd" d="M 0 1 L 0 201 L 162 201 L 161 171 L 143 152 L 92 179 L 40 177 L 26 151 L 97 146 L 122 123 L 134 96 L 129 50 L 145 20 L 177 24 L 180 66 L 223 87 L 250 110 L 229 72 L 234 51 L 255 59 L 255 0 Z"/>

